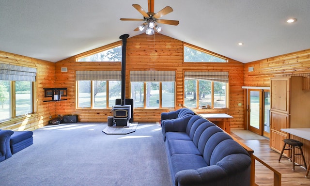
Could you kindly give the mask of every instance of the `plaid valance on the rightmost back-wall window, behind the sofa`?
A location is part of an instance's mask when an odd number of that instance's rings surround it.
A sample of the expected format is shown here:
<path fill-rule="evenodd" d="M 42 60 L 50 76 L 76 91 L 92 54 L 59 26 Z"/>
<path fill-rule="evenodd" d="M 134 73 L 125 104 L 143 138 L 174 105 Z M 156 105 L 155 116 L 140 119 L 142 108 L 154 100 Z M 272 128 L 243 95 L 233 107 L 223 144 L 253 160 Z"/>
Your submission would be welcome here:
<path fill-rule="evenodd" d="M 185 78 L 187 79 L 202 79 L 209 81 L 218 81 L 228 83 L 228 72 L 194 72 L 186 71 Z"/>

